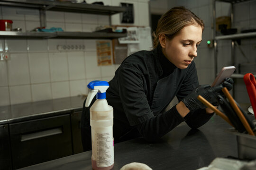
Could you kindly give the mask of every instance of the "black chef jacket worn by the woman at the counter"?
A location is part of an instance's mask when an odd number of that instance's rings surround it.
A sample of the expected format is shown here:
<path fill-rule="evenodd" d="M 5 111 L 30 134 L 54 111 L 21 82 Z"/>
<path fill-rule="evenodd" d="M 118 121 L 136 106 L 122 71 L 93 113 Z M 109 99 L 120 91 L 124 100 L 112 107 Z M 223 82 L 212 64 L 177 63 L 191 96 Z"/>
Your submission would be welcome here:
<path fill-rule="evenodd" d="M 109 84 L 106 96 L 114 108 L 115 141 L 135 136 L 157 140 L 183 121 L 197 128 L 211 117 L 205 109 L 191 111 L 185 118 L 175 106 L 165 111 L 175 96 L 181 101 L 199 83 L 194 62 L 185 69 L 176 68 L 160 45 L 126 58 Z"/>

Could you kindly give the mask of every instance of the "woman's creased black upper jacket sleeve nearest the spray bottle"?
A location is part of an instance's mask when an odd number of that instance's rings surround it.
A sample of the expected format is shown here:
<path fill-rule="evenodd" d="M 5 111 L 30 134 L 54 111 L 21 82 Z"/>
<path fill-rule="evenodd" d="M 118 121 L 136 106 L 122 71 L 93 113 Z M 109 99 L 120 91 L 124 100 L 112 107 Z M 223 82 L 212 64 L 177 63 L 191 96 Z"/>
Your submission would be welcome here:
<path fill-rule="evenodd" d="M 138 67 L 122 65 L 119 68 L 119 97 L 131 126 L 154 117 L 146 98 L 146 80 Z"/>

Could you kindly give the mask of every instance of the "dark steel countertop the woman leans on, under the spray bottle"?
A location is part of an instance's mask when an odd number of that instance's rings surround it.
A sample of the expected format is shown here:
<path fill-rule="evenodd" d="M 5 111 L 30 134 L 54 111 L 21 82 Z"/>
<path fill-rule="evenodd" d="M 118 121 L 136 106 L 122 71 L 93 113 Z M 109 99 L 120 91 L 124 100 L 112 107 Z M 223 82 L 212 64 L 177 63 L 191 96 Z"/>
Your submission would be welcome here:
<path fill-rule="evenodd" d="M 112 170 L 119 170 L 130 162 L 145 163 L 153 170 L 196 170 L 208 166 L 216 157 L 238 157 L 236 136 L 224 132 L 228 128 L 227 122 L 214 115 L 198 130 L 183 123 L 156 143 L 138 138 L 115 144 Z M 92 170 L 91 151 L 21 170 Z"/>

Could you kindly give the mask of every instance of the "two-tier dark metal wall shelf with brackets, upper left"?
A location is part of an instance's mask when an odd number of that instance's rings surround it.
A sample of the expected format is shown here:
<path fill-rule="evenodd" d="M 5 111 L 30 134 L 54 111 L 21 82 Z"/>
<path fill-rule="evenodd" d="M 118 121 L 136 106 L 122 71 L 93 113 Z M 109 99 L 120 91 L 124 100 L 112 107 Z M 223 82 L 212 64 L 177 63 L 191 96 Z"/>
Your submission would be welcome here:
<path fill-rule="evenodd" d="M 93 5 L 86 3 L 71 3 L 60 1 L 47 1 L 47 0 L 0 0 L 0 6 L 10 6 L 19 8 L 33 8 L 40 11 L 40 26 L 46 26 L 46 11 L 64 11 L 76 12 L 87 14 L 108 15 L 125 12 L 125 7 L 118 6 L 103 6 Z M 111 17 L 110 17 L 111 25 Z M 72 38 L 72 39 L 113 39 L 127 36 L 125 33 L 113 32 L 15 32 L 15 31 L 0 31 L 0 38 L 29 38 L 29 39 L 42 39 L 42 38 Z"/>

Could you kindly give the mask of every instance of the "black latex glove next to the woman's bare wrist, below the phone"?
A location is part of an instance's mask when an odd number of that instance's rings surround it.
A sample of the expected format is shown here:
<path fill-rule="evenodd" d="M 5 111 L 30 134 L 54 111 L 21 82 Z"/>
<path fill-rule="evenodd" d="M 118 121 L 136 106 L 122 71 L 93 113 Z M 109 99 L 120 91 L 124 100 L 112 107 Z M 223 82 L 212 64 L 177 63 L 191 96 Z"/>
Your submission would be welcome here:
<path fill-rule="evenodd" d="M 197 99 L 197 96 L 201 95 L 208 102 L 210 102 L 214 106 L 217 106 L 219 105 L 217 95 L 222 88 L 223 88 L 222 84 L 216 85 L 214 87 L 211 87 L 210 85 L 199 85 L 192 91 L 192 93 L 184 97 L 182 99 L 182 102 L 186 105 L 186 107 L 189 110 L 196 110 L 200 108 L 205 109 L 207 107 Z"/>

